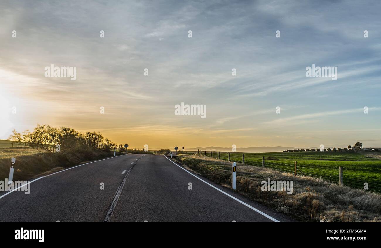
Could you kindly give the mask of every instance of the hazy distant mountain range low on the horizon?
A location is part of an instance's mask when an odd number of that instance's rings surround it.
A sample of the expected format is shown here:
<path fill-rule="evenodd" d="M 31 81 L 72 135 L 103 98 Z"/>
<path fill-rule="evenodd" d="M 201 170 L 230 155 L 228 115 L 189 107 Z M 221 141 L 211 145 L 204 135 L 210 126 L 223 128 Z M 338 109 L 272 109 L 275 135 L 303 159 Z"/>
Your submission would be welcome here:
<path fill-rule="evenodd" d="M 237 153 L 276 153 L 285 150 L 293 149 L 317 149 L 320 147 L 284 147 L 284 146 L 258 146 L 258 147 L 237 147 Z M 332 147 L 325 147 L 325 149 Z M 184 151 L 197 151 L 198 149 L 213 149 L 217 151 L 232 151 L 231 147 L 217 147 L 217 146 L 208 146 L 208 147 L 195 147 L 195 148 L 186 148 Z"/>

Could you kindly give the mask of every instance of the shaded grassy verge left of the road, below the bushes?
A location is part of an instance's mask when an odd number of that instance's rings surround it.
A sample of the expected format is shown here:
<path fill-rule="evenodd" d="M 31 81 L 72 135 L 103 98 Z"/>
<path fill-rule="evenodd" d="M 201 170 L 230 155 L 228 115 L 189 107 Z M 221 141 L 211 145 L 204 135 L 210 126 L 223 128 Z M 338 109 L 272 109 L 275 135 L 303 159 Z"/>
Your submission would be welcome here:
<path fill-rule="evenodd" d="M 114 156 L 114 152 L 80 149 L 68 154 L 38 152 L 32 148 L 0 148 L 0 180 L 9 176 L 11 158 L 16 158 L 14 180 L 28 180 L 84 162 Z"/>

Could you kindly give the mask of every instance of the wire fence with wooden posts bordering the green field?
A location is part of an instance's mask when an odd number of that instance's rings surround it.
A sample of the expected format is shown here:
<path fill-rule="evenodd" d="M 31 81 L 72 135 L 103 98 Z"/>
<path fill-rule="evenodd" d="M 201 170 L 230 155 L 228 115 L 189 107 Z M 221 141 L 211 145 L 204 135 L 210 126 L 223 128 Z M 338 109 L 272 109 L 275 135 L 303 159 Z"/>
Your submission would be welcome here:
<path fill-rule="evenodd" d="M 181 154 L 181 153 L 179 153 Z M 340 174 L 338 166 L 324 166 L 317 167 L 308 163 L 308 161 L 275 158 L 275 157 L 260 157 L 256 154 L 250 153 L 229 153 L 229 152 L 217 152 L 217 151 L 184 151 L 183 154 L 207 156 L 215 159 L 222 159 L 231 162 L 244 163 L 248 165 L 254 165 L 259 167 L 266 167 L 280 172 L 292 173 L 294 175 L 310 176 L 313 178 L 319 178 L 330 183 L 340 183 Z M 381 166 L 381 162 L 378 166 Z M 345 167 L 345 165 L 344 165 Z M 381 183 L 379 178 L 371 178 L 368 176 L 352 175 L 351 173 L 344 172 L 342 175 L 342 184 L 358 189 L 368 189 L 381 193 Z M 366 188 L 367 187 L 367 188 Z"/>

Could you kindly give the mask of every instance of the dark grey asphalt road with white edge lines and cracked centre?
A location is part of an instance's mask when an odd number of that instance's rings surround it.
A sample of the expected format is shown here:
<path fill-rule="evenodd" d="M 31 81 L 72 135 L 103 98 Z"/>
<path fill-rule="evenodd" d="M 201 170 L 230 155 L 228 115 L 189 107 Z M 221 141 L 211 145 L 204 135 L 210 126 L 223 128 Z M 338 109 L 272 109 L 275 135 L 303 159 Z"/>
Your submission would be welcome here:
<path fill-rule="evenodd" d="M 112 157 L 0 194 L 0 221 L 290 221 L 194 175 L 165 156 Z"/>

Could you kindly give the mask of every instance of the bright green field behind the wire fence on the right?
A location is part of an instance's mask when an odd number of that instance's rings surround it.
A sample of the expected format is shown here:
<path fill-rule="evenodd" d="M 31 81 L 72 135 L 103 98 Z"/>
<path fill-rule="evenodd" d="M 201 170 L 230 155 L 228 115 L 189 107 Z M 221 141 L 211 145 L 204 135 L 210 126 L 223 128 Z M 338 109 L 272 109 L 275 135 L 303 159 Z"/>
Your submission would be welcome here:
<path fill-rule="evenodd" d="M 192 154 L 194 152 L 187 152 Z M 230 153 L 230 161 L 242 162 L 243 153 Z M 379 153 L 349 153 L 349 152 L 292 152 L 292 153 L 244 153 L 245 164 L 264 165 L 282 172 L 322 178 L 333 183 L 339 181 L 339 167 L 343 167 L 343 183 L 354 188 L 364 187 L 381 192 L 381 160 L 370 157 Z M 373 155 L 374 154 L 374 155 Z M 205 156 L 205 153 L 202 154 Z M 218 158 L 218 152 L 207 152 L 206 156 Z M 379 155 L 381 157 L 381 154 Z M 220 159 L 228 160 L 228 153 L 221 152 Z"/>

